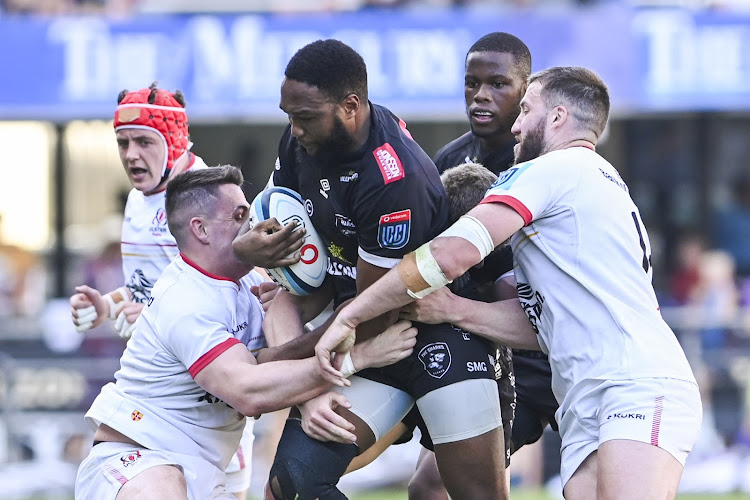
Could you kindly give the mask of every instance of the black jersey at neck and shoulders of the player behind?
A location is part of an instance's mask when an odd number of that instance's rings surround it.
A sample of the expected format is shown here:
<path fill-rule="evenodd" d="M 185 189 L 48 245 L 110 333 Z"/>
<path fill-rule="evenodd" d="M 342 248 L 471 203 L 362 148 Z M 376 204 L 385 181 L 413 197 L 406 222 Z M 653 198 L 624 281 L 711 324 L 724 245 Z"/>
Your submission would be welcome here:
<path fill-rule="evenodd" d="M 435 155 L 435 165 L 438 171 L 443 173 L 462 163 L 481 163 L 495 175 L 500 175 L 500 172 L 513 165 L 515 144 L 515 141 L 511 141 L 505 147 L 488 151 L 483 146 L 482 140 L 469 131 L 440 148 Z"/>

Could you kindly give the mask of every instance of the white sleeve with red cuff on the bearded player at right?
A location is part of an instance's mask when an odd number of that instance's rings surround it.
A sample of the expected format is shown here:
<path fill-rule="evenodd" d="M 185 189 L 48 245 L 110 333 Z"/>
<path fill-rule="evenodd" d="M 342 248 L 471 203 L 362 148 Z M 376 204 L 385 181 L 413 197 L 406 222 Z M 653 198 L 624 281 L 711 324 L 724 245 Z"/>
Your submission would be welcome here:
<path fill-rule="evenodd" d="M 569 189 L 571 179 L 565 172 L 544 159 L 521 163 L 506 170 L 481 203 L 504 203 L 523 217 L 528 226 L 533 220 L 549 215 Z"/>

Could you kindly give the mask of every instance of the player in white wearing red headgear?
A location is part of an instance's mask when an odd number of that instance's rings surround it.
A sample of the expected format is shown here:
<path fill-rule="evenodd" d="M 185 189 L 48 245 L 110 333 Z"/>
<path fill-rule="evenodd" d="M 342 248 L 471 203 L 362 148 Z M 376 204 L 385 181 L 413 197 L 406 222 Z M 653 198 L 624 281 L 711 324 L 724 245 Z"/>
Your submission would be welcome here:
<path fill-rule="evenodd" d="M 122 267 L 125 285 L 102 295 L 82 285 L 70 298 L 73 323 L 80 332 L 100 325 L 107 318 L 115 329 L 129 338 L 135 320 L 151 297 L 151 288 L 164 268 L 177 256 L 177 243 L 167 227 L 164 196 L 169 181 L 180 172 L 206 168 L 203 160 L 190 151 L 185 98 L 179 90 L 157 87 L 134 92 L 124 90 L 117 99 L 114 128 L 122 166 L 133 189 L 128 194 L 122 225 Z M 275 220 L 258 224 L 245 239 L 266 238 L 266 248 L 281 247 L 277 255 L 293 254 L 302 245 L 302 231 L 282 230 Z M 270 234 L 265 229 L 275 231 Z M 258 265 L 276 267 L 293 259 L 261 259 Z M 268 285 L 261 284 L 261 287 Z M 242 444 L 232 458 L 227 473 L 230 491 L 244 499 L 250 487 L 250 457 L 253 421 L 248 420 Z"/>

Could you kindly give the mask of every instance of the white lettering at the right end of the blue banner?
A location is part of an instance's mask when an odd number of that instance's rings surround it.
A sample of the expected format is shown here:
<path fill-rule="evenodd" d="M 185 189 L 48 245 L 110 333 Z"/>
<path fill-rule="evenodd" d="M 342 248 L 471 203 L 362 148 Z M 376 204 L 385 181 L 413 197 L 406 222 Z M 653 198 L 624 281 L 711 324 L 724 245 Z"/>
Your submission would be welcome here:
<path fill-rule="evenodd" d="M 748 90 L 743 53 L 750 29 L 743 25 L 696 25 L 687 12 L 644 12 L 633 20 L 646 40 L 644 88 L 652 94 Z"/>

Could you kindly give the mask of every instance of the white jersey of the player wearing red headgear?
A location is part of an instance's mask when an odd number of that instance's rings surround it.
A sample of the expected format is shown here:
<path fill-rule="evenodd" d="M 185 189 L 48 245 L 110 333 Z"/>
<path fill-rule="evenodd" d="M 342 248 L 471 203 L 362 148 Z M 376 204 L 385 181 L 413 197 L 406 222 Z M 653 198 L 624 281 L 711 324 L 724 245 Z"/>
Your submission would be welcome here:
<path fill-rule="evenodd" d="M 188 169 L 206 168 L 191 154 Z M 166 189 L 145 196 L 133 188 L 125 204 L 122 222 L 122 271 L 134 302 L 145 303 L 151 288 L 167 265 L 177 256 L 177 242 L 167 226 L 164 210 Z"/>

